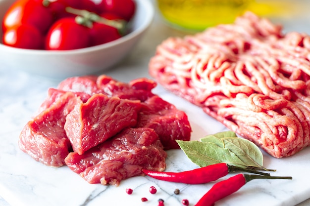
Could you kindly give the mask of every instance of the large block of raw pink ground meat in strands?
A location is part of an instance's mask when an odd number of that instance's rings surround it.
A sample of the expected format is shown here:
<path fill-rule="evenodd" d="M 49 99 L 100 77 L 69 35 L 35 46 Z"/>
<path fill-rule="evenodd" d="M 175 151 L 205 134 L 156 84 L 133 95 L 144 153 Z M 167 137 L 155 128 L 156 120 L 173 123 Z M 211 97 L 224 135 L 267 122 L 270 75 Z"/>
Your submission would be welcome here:
<path fill-rule="evenodd" d="M 158 45 L 150 74 L 276 158 L 310 144 L 310 36 L 246 12 Z"/>

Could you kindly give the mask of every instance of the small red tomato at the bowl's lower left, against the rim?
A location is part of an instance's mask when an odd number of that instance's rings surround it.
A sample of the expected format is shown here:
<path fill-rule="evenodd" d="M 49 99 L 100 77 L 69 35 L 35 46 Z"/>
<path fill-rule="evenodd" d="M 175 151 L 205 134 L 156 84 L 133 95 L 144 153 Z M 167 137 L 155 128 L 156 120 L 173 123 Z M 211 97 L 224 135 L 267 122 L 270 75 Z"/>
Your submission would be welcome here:
<path fill-rule="evenodd" d="M 7 29 L 2 37 L 5 45 L 27 49 L 42 49 L 43 39 L 36 27 L 25 24 Z"/>

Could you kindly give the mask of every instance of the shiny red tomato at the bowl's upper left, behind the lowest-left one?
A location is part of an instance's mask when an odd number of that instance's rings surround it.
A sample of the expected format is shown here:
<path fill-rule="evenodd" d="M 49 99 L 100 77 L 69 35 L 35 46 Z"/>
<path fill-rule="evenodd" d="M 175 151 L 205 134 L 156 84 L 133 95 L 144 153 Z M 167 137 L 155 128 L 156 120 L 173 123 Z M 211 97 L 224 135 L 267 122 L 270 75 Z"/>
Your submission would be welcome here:
<path fill-rule="evenodd" d="M 41 0 L 17 0 L 7 10 L 2 21 L 2 29 L 21 25 L 33 25 L 45 34 L 52 25 L 52 12 Z"/>

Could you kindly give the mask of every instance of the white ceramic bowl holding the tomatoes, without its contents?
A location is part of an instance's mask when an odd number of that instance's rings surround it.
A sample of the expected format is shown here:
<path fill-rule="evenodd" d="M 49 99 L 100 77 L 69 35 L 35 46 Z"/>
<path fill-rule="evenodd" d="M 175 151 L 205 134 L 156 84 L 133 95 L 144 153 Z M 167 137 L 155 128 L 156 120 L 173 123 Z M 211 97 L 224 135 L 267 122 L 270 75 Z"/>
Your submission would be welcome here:
<path fill-rule="evenodd" d="M 0 0 L 1 23 L 12 2 L 14 0 Z M 48 51 L 14 48 L 2 44 L 1 31 L 0 66 L 49 78 L 88 75 L 110 68 L 133 49 L 153 20 L 151 0 L 136 0 L 136 5 L 129 34 L 115 41 L 82 49 Z"/>

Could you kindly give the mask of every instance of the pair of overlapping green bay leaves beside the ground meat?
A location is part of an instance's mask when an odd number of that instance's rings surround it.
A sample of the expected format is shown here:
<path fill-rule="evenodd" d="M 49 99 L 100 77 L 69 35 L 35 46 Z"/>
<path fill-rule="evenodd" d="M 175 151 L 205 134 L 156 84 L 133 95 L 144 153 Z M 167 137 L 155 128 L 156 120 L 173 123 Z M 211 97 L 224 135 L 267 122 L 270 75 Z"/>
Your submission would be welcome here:
<path fill-rule="evenodd" d="M 268 170 L 262 166 L 263 156 L 258 146 L 250 140 L 239 138 L 233 131 L 218 132 L 200 140 L 203 144 L 198 143 L 200 141 L 182 142 L 182 146 L 179 144 L 189 159 L 199 166 L 222 162 L 236 166 L 242 165 L 244 168 Z M 218 154 L 228 155 L 228 158 L 218 156 Z"/>

